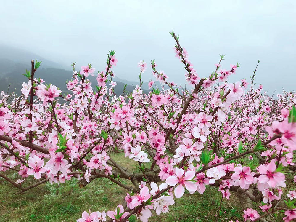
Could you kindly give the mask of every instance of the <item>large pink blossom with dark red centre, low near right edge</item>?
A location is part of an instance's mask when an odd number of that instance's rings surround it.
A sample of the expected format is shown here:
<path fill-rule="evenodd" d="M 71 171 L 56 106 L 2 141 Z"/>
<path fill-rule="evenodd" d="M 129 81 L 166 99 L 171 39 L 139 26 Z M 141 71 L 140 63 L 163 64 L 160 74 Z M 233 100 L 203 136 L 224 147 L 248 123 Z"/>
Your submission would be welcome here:
<path fill-rule="evenodd" d="M 258 172 L 261 174 L 258 178 L 258 188 L 259 184 L 268 184 L 268 187 L 275 188 L 277 186 L 286 187 L 285 175 L 276 171 L 276 164 L 271 162 L 268 165 L 260 165 L 258 167 Z"/>

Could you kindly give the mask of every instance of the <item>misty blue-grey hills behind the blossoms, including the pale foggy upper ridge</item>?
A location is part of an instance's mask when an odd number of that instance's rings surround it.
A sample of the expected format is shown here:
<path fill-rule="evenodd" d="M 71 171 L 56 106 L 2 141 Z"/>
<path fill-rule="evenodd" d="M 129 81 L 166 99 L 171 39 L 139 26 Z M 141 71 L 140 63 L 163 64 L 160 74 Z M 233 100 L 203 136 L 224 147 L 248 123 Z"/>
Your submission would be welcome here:
<path fill-rule="evenodd" d="M 62 64 L 47 60 L 44 57 L 36 55 L 32 52 L 25 50 L 19 50 L 13 47 L 8 47 L 0 45 L 0 91 L 12 92 L 15 90 L 17 95 L 20 95 L 20 89 L 22 88 L 23 82 L 28 82 L 28 79 L 22 74 L 25 73 L 26 69 L 31 69 L 31 60 L 37 59 L 42 61 L 40 68 L 36 71 L 36 78 L 44 79 L 46 84 L 51 83 L 59 87 L 63 93 L 68 93 L 66 88 L 66 81 L 70 80 L 73 71 L 70 68 L 65 67 Z M 70 67 L 70 66 L 69 66 Z M 79 69 L 79 67 L 77 67 Z M 89 76 L 92 82 L 92 87 L 97 84 L 96 77 Z M 123 93 L 124 85 L 126 86 L 126 91 L 131 92 L 138 82 L 127 81 L 124 79 L 115 78 L 117 85 L 115 86 L 116 95 Z M 148 92 L 148 82 L 144 82 L 142 89 L 144 92 Z"/>

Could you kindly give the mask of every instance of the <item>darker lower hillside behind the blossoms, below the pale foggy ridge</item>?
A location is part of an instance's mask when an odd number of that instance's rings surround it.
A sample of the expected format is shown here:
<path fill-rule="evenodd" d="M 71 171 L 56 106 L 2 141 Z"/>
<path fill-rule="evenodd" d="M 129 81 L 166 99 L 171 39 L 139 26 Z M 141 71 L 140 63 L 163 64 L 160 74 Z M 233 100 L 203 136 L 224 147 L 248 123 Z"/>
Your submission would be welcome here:
<path fill-rule="evenodd" d="M 28 79 L 22 74 L 25 73 L 25 70 L 30 70 L 30 66 L 22 63 L 15 63 L 8 59 L 0 59 L 0 91 L 7 92 L 9 87 L 9 93 L 15 90 L 17 95 L 20 95 L 22 83 L 28 82 Z M 43 61 L 41 63 L 41 67 L 36 71 L 36 78 L 44 79 L 44 81 L 48 84 L 51 83 L 59 87 L 63 93 L 69 93 L 66 88 L 66 81 L 70 80 L 73 75 L 72 71 L 68 71 L 60 68 L 43 68 Z M 93 76 L 89 76 L 90 81 L 92 82 L 92 87 L 95 89 L 95 85 L 97 85 L 96 78 Z M 125 80 L 118 81 L 117 78 L 114 79 L 117 82 L 117 85 L 114 88 L 116 95 L 120 95 L 123 93 L 123 87 L 126 84 Z M 130 85 L 127 84 L 126 91 L 131 92 L 134 90 L 136 84 Z M 148 88 L 148 84 L 147 84 Z M 144 89 L 144 93 L 147 93 L 148 90 Z"/>

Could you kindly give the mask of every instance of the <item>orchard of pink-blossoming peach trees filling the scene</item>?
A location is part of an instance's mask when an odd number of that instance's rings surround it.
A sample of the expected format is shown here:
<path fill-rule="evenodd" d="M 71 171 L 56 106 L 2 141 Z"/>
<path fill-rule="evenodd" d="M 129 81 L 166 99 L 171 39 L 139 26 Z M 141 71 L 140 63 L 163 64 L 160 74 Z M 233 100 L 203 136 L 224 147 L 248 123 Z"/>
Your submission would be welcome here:
<path fill-rule="evenodd" d="M 147 63 L 141 60 L 139 85 L 115 95 L 117 59 L 111 51 L 97 74 L 91 64 L 76 71 L 73 63 L 70 93 L 62 95 L 36 78 L 40 62 L 32 60 L 22 96 L 1 92 L 0 177 L 19 193 L 71 179 L 84 187 L 107 178 L 126 189 L 123 205 L 81 212 L 80 222 L 128 221 L 133 214 L 148 221 L 152 213 L 168 212 L 186 190 L 203 194 L 208 186 L 217 187 L 221 202 L 238 195 L 245 221 L 272 221 L 275 215 L 295 220 L 296 193 L 285 187 L 296 180 L 296 95 L 274 99 L 261 85 L 256 89 L 256 70 L 250 87 L 246 80 L 227 82 L 239 64 L 222 69 L 223 55 L 213 73 L 200 78 L 179 36 L 170 34 L 192 90 L 170 82 L 153 60 L 152 75 L 163 87 L 150 81 L 150 92 L 143 93 Z M 94 75 L 96 86 L 88 79 Z M 118 151 L 131 162 L 128 169 L 112 159 Z M 135 164 L 141 173 L 133 173 Z M 18 172 L 17 181 L 9 178 L 10 170 Z M 262 212 L 252 208 L 254 202 Z"/>

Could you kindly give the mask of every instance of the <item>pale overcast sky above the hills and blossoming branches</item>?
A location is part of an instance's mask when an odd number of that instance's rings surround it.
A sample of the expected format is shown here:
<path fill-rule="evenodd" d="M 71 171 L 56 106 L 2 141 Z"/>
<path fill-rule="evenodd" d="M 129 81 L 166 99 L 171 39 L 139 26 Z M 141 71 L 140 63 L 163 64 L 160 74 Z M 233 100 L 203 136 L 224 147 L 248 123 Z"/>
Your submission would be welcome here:
<path fill-rule="evenodd" d="M 0 43 L 70 65 L 92 63 L 104 70 L 108 50 L 115 74 L 137 80 L 137 62 L 155 59 L 171 81 L 184 83 L 168 33 L 180 35 L 200 77 L 226 54 L 222 68 L 241 63 L 235 81 L 261 60 L 256 82 L 264 90 L 295 90 L 295 1 L 4 1 Z M 31 59 L 31 58 L 29 58 Z M 70 66 L 69 66 L 70 69 Z M 144 80 L 153 79 L 150 69 Z"/>

